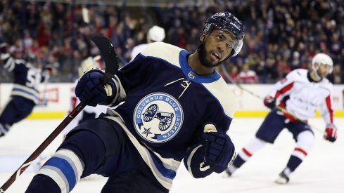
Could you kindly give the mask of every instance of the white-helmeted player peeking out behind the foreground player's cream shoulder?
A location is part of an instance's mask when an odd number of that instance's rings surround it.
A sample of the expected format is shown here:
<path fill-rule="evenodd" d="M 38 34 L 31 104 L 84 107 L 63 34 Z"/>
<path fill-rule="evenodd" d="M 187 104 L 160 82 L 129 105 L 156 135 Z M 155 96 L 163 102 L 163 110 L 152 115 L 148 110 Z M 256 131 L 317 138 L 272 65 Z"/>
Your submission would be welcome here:
<path fill-rule="evenodd" d="M 165 39 L 165 29 L 163 27 L 159 27 L 158 25 L 154 25 L 151 27 L 147 32 L 147 44 L 139 44 L 132 48 L 132 53 L 130 53 L 130 62 L 134 60 L 136 55 L 144 51 L 147 46 L 153 42 L 160 42 Z"/>

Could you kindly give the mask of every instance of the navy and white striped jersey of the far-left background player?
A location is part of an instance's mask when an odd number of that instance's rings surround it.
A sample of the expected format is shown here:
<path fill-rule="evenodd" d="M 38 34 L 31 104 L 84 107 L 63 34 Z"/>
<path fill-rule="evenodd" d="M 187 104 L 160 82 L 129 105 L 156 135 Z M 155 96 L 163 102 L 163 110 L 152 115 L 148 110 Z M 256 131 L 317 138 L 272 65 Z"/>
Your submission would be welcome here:
<path fill-rule="evenodd" d="M 35 104 L 39 102 L 38 86 L 49 78 L 49 73 L 42 73 L 42 69 L 33 67 L 25 60 L 15 60 L 12 57 L 6 59 L 4 69 L 13 72 L 14 85 L 12 95 L 18 95 L 32 100 Z"/>

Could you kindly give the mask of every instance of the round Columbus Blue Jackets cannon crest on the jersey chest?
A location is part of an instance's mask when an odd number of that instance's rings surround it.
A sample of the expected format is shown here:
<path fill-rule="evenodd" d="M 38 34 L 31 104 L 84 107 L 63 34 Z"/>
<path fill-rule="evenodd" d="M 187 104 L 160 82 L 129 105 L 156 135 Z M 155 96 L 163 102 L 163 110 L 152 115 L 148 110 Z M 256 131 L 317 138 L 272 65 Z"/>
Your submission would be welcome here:
<path fill-rule="evenodd" d="M 153 93 L 140 100 L 134 111 L 136 132 L 148 142 L 174 138 L 183 124 L 183 109 L 166 93 Z"/>

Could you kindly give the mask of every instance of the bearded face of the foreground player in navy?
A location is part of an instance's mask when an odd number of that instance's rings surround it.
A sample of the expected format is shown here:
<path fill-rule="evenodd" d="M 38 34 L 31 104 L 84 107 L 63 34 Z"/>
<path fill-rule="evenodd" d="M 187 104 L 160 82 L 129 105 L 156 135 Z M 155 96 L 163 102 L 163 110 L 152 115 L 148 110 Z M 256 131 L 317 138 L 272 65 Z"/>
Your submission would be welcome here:
<path fill-rule="evenodd" d="M 227 59 L 236 39 L 229 32 L 214 29 L 209 35 L 202 34 L 200 41 L 200 62 L 205 67 L 215 67 Z"/>

